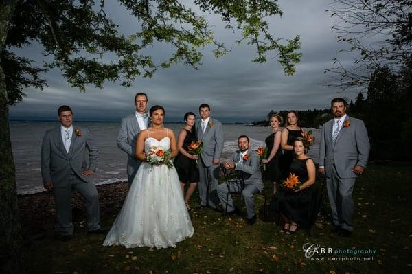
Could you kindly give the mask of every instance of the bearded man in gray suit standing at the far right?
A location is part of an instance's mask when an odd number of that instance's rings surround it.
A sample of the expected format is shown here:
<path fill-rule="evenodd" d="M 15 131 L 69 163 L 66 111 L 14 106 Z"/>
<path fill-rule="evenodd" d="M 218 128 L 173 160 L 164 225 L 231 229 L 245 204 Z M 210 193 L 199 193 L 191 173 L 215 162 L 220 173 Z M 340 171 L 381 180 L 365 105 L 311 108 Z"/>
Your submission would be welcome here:
<path fill-rule="evenodd" d="M 332 209 L 332 232 L 347 237 L 354 229 L 352 190 L 369 157 L 369 138 L 365 124 L 346 114 L 347 102 L 334 98 L 334 119 L 323 124 L 319 148 L 319 173 L 326 175 Z"/>

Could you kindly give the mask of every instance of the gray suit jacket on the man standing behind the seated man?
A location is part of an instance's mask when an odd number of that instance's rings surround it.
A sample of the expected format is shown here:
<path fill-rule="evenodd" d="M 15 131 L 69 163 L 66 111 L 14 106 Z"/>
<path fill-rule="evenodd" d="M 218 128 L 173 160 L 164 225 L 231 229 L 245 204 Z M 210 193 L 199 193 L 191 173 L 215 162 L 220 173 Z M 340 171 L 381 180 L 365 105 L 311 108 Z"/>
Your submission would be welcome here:
<path fill-rule="evenodd" d="M 210 117 L 203 134 L 202 122 L 201 119 L 198 119 L 196 122 L 196 134 L 198 139 L 203 141 L 201 153 L 203 163 L 205 166 L 213 165 L 213 159 L 220 159 L 220 155 L 222 155 L 224 144 L 222 123 Z"/>

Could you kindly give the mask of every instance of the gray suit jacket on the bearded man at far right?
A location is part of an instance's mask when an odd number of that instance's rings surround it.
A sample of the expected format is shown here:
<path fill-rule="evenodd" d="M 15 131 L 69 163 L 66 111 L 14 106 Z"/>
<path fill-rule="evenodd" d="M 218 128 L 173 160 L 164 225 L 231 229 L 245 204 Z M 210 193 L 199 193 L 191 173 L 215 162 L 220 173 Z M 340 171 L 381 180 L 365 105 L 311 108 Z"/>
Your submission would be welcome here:
<path fill-rule="evenodd" d="M 334 146 L 332 145 L 332 128 L 334 119 L 323 124 L 321 145 L 319 148 L 319 165 L 325 167 L 326 176 L 330 176 L 333 166 L 342 179 L 356 178 L 352 172 L 355 165 L 366 167 L 369 158 L 369 138 L 363 121 L 349 117 L 345 121 L 350 125 L 342 126 Z"/>

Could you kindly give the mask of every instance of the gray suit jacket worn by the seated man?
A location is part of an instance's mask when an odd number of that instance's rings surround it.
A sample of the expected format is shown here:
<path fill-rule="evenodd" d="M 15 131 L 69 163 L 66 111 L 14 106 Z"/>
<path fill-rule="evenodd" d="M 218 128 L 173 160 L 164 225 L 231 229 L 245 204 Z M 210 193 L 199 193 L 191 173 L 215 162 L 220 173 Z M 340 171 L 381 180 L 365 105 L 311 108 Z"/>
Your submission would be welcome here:
<path fill-rule="evenodd" d="M 229 161 L 236 163 L 236 170 L 238 170 L 238 177 L 244 180 L 244 185 L 255 185 L 260 191 L 263 190 L 262 172 L 260 172 L 259 155 L 257 152 L 251 150 L 247 152 L 249 158 L 240 161 L 240 150 L 233 152 Z"/>

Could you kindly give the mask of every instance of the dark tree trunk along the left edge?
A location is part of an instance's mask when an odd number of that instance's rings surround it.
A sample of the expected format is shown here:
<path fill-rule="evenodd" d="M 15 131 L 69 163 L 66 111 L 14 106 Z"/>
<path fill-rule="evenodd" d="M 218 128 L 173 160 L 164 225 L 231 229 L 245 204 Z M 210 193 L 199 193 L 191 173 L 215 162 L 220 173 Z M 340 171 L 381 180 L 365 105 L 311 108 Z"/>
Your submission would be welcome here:
<path fill-rule="evenodd" d="M 0 3 L 0 49 L 3 49 L 14 1 Z M 0 67 L 0 273 L 25 273 L 23 263 L 21 223 L 17 207 L 16 177 L 10 129 L 8 99 L 3 68 Z"/>

